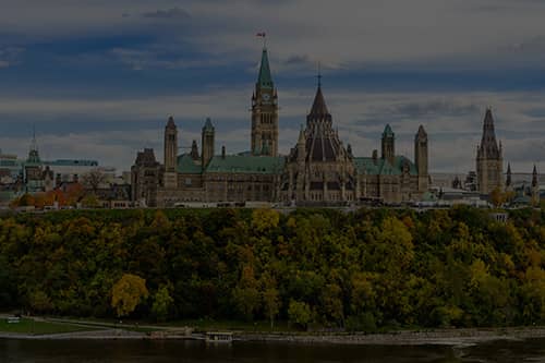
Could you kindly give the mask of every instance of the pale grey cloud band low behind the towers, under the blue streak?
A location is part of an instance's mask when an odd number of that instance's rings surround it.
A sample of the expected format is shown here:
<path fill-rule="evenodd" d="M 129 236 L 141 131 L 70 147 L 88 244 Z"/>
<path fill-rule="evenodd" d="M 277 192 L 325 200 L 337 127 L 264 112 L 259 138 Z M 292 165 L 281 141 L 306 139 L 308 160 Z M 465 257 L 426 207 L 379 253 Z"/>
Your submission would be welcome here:
<path fill-rule="evenodd" d="M 59 158 L 66 155 L 93 158 L 95 153 L 95 158 L 102 162 L 128 169 L 137 149 L 154 147 L 158 158 L 162 155 L 162 130 L 168 116 L 173 114 L 182 145 L 198 141 L 205 118 L 211 117 L 217 149 L 226 145 L 228 153 L 243 152 L 250 144 L 251 90 L 252 84 L 131 99 L 2 97 L 0 131 L 4 136 L 0 143 L 5 143 L 2 144 L 5 152 L 24 155 L 29 125 L 26 125 L 26 134 L 15 136 L 12 134 L 17 126 L 13 125 L 33 120 L 38 130 L 49 133 L 47 137 L 39 137 L 44 153 Z M 288 89 L 280 96 L 280 152 L 287 154 L 296 142 L 299 125 L 305 123 L 314 89 Z M 380 134 L 386 123 L 390 123 L 398 154 L 413 158 L 414 134 L 423 124 L 429 135 L 431 170 L 473 170 L 484 111 L 492 105 L 506 164 L 511 161 L 524 171 L 535 161 L 545 170 L 543 118 L 529 112 L 542 107 L 545 93 L 461 92 L 437 96 L 328 88 L 325 97 L 334 116 L 334 126 L 339 129 L 344 145 L 352 145 L 356 156 L 370 156 L 373 149 L 379 149 Z M 66 122 L 56 129 L 60 119 Z M 109 125 L 108 130 L 105 124 Z M 83 126 L 86 131 L 78 131 Z"/>

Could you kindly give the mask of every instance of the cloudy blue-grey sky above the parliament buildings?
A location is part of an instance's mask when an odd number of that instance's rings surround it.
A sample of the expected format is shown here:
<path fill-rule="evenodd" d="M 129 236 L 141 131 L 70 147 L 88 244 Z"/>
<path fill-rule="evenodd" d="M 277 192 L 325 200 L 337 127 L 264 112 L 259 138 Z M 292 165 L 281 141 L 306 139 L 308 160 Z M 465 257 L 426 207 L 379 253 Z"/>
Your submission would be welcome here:
<path fill-rule="evenodd" d="M 433 172 L 474 170 L 487 107 L 506 164 L 545 172 L 542 0 L 0 0 L 0 148 L 130 170 L 162 160 L 207 117 L 216 149 L 250 148 L 250 106 L 267 34 L 280 153 L 296 143 L 317 64 L 334 125 L 356 156 L 389 123 L 413 158 L 420 124 Z"/>

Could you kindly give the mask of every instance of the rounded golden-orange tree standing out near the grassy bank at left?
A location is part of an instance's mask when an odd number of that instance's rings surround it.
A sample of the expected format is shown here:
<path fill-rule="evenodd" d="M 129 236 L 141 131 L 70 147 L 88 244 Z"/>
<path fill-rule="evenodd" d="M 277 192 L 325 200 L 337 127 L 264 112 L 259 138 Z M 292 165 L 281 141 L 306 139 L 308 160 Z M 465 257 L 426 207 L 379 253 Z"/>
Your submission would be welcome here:
<path fill-rule="evenodd" d="M 111 290 L 111 307 L 119 317 L 130 315 L 143 299 L 148 297 L 146 280 L 124 274 Z"/>

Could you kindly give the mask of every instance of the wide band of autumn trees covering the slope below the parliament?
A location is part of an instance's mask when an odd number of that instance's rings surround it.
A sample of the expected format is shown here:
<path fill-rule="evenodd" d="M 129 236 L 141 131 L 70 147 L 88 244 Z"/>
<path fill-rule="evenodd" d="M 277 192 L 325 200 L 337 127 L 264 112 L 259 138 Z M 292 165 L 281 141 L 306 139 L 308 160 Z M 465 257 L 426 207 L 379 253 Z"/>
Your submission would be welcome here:
<path fill-rule="evenodd" d="M 0 219 L 0 306 L 349 330 L 545 324 L 545 211 L 59 211 Z"/>

